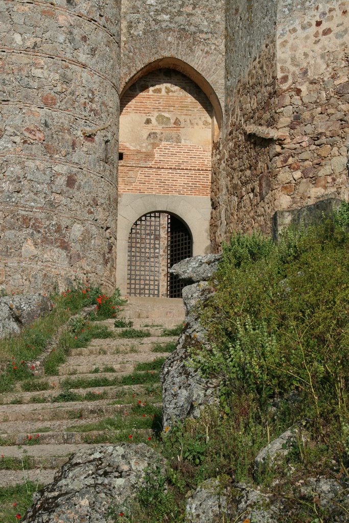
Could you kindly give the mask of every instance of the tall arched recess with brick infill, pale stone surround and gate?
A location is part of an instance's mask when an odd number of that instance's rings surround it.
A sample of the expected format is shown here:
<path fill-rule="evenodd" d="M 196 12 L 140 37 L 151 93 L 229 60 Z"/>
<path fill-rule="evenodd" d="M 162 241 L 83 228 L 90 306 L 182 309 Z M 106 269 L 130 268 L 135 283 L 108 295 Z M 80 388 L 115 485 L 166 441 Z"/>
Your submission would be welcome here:
<path fill-rule="evenodd" d="M 192 79 L 168 68 L 139 78 L 120 103 L 118 285 L 130 295 L 181 297 L 168 275 L 170 261 L 184 256 L 184 244 L 168 254 L 174 231 L 186 238 L 185 257 L 210 251 L 213 107 Z"/>

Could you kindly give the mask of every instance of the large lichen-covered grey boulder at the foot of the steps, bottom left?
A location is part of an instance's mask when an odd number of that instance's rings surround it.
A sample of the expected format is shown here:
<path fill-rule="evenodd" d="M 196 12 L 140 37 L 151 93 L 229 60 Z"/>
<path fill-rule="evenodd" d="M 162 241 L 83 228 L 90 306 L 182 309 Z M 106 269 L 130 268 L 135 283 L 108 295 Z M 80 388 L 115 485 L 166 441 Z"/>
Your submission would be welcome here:
<path fill-rule="evenodd" d="M 111 507 L 125 511 L 145 470 L 164 460 L 147 445 L 95 446 L 76 452 L 38 492 L 27 523 L 107 523 Z"/>

